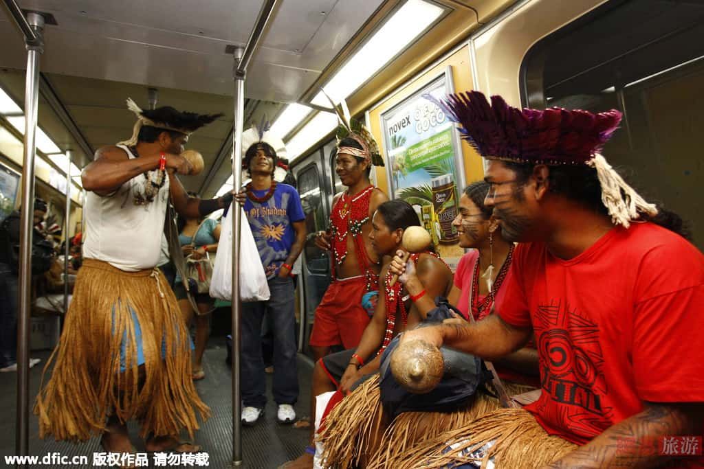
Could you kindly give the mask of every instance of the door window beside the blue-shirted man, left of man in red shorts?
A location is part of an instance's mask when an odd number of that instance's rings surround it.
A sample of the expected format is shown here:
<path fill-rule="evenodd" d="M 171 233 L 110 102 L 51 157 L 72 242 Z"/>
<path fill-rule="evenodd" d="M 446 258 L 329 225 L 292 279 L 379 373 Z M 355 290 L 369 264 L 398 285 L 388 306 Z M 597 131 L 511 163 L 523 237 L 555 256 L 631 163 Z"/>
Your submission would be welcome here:
<path fill-rule="evenodd" d="M 306 266 L 312 274 L 327 274 L 329 261 L 327 254 L 315 246 L 314 235 L 317 231 L 325 230 L 327 219 L 322 206 L 322 193 L 320 191 L 320 174 L 318 167 L 310 165 L 298 173 L 298 193 L 301 194 L 303 213 L 306 214 L 306 229 L 308 240 L 306 242 Z"/>

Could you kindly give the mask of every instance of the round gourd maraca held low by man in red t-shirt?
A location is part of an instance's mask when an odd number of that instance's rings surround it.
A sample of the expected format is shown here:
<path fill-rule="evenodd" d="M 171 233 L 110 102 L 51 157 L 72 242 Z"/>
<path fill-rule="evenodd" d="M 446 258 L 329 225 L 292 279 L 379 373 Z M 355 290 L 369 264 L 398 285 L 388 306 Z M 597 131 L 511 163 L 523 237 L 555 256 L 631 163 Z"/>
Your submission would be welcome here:
<path fill-rule="evenodd" d="M 425 340 L 403 342 L 391 354 L 391 373 L 413 394 L 426 394 L 440 383 L 445 371 L 443 354 Z"/>

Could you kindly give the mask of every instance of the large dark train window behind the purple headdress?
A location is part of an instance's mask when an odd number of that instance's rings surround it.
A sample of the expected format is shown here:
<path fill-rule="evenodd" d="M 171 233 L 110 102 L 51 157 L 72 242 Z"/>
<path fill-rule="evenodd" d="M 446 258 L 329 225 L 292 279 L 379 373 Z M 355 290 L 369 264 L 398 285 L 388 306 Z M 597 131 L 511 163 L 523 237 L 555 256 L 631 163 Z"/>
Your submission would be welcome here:
<path fill-rule="evenodd" d="M 621 110 L 604 154 L 646 198 L 688 220 L 699 248 L 702 37 L 704 2 L 612 0 L 534 45 L 520 74 L 529 107 Z"/>

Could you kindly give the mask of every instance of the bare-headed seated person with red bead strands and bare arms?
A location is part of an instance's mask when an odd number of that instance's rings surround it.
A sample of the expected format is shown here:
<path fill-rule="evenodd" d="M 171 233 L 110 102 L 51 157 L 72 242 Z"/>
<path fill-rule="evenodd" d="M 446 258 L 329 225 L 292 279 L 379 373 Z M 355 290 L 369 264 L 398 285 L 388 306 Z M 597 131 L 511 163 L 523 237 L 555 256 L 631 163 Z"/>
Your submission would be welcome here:
<path fill-rule="evenodd" d="M 418 314 L 413 305 L 414 301 L 423 297 L 436 297 L 447 295 L 452 285 L 452 273 L 434 253 L 422 252 L 413 255 L 413 262 L 417 265 L 418 278 L 424 285 L 422 295 L 408 297 L 401 283 L 391 283 L 389 272 L 390 255 L 401 248 L 403 231 L 408 226 L 420 226 L 417 214 L 413 207 L 403 200 L 389 200 L 382 203 L 372 217 L 372 231 L 370 241 L 379 257 L 386 256 L 382 267 L 383 287 L 372 320 L 367 325 L 356 349 L 344 350 L 330 354 L 318 360 L 313 371 L 313 402 L 310 406 L 315 411 L 315 397 L 338 387 L 346 394 L 360 381 L 369 378 L 379 369 L 380 355 L 386 345 L 406 326 L 415 326 L 422 321 L 423 316 Z M 398 301 L 398 300 L 401 301 Z M 408 312 L 407 312 L 408 311 Z M 374 381 L 373 383 L 376 383 Z M 368 387 L 375 387 L 369 383 Z M 365 384 L 365 386 L 367 386 Z M 378 389 L 375 394 L 370 394 L 369 401 L 378 400 Z M 315 415 L 312 416 L 315 421 Z M 311 428 L 310 444 L 306 454 L 285 465 L 287 469 L 313 467 L 313 438 L 315 430 Z"/>

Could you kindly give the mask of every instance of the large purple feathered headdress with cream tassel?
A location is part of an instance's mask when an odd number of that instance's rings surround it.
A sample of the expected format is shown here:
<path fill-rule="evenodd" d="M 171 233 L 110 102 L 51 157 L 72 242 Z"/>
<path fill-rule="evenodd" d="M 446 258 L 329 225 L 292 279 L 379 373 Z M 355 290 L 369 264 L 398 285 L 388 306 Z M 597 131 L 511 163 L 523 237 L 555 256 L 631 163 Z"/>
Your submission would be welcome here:
<path fill-rule="evenodd" d="M 618 110 L 598 114 L 562 108 L 520 110 L 501 96 L 491 96 L 490 104 L 479 91 L 451 94 L 446 100 L 429 94 L 424 97 L 461 124 L 463 139 L 484 158 L 596 168 L 601 200 L 615 224 L 628 227 L 640 213 L 658 213 L 655 205 L 643 200 L 600 153 L 621 122 Z"/>

